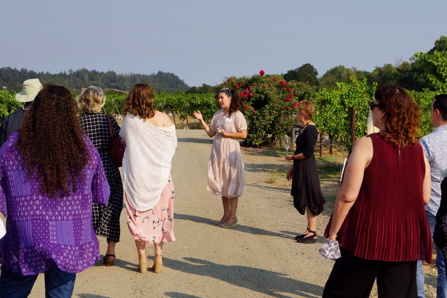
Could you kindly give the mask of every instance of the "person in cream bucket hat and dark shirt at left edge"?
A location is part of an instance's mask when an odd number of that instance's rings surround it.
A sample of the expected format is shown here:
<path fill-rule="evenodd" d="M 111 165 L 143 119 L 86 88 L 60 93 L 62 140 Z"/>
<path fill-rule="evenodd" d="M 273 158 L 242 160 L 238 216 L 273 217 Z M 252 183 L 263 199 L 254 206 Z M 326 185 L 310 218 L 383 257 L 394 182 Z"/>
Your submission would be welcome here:
<path fill-rule="evenodd" d="M 19 131 L 22 119 L 25 117 L 27 110 L 30 108 L 34 97 L 42 89 L 39 79 L 30 79 L 23 82 L 23 91 L 16 94 L 16 101 L 23 102 L 21 109 L 17 109 L 4 118 L 0 126 L 0 147 L 8 139 L 13 132 Z"/>

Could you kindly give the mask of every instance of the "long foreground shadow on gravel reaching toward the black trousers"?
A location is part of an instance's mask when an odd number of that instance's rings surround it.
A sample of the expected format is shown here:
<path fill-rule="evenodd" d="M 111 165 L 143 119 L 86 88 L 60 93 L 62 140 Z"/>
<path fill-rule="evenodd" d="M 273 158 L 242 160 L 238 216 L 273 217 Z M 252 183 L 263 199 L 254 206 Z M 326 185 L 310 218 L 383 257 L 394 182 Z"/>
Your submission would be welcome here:
<path fill-rule="evenodd" d="M 298 281 L 287 277 L 284 273 L 274 272 L 270 270 L 257 269 L 239 265 L 222 265 L 212 263 L 207 260 L 196 258 L 183 258 L 186 260 L 169 260 L 163 265 L 174 270 L 185 273 L 197 274 L 201 276 L 209 276 L 229 284 L 256 291 L 262 294 L 270 295 L 277 298 L 288 298 L 289 295 L 281 293 L 290 293 L 300 297 L 321 296 L 323 287 L 313 285 L 305 281 Z M 310 293 L 314 296 L 311 296 Z M 177 296 L 171 296 L 177 297 Z M 178 296 L 178 297 L 194 297 L 194 296 Z"/>

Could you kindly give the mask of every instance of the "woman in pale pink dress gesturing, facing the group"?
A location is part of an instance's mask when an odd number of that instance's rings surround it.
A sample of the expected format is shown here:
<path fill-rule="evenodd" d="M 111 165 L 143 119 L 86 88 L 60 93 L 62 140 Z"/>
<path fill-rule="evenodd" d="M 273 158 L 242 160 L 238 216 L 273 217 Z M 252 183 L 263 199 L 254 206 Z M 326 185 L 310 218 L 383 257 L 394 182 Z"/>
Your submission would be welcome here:
<path fill-rule="evenodd" d="M 234 89 L 221 89 L 218 100 L 222 109 L 214 114 L 211 127 L 203 121 L 200 111 L 194 116 L 210 138 L 216 136 L 207 167 L 207 189 L 222 197 L 223 216 L 216 225 L 229 228 L 236 227 L 237 202 L 244 191 L 244 163 L 238 139 L 247 137 L 247 122 L 239 111 L 240 101 Z"/>

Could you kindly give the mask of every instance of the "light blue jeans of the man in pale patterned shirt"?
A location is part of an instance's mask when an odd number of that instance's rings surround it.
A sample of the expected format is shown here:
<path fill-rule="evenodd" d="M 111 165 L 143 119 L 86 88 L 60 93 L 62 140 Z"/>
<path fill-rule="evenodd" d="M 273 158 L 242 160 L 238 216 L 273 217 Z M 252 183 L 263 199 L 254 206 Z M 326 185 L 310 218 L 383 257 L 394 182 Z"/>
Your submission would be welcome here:
<path fill-rule="evenodd" d="M 428 224 L 430 225 L 431 237 L 433 237 L 434 225 L 436 224 L 436 216 L 425 211 L 427 214 Z M 447 298 L 447 279 L 446 279 L 446 264 L 447 260 L 443 252 L 436 247 L 436 267 L 438 267 L 438 286 L 436 288 L 437 298 Z M 424 273 L 422 272 L 422 261 L 417 261 L 416 270 L 416 282 L 417 282 L 417 298 L 425 298 L 424 291 Z"/>

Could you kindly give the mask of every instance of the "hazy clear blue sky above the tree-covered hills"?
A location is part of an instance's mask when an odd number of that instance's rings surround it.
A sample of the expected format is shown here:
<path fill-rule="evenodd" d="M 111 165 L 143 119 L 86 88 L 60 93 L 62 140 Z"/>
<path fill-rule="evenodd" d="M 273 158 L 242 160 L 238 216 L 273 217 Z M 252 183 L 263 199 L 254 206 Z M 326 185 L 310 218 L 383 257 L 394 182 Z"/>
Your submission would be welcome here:
<path fill-rule="evenodd" d="M 447 1 L 0 2 L 0 67 L 169 71 L 186 84 L 311 63 L 371 71 L 447 35 Z"/>

